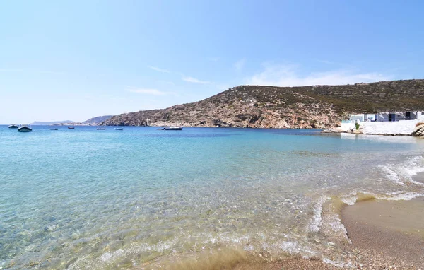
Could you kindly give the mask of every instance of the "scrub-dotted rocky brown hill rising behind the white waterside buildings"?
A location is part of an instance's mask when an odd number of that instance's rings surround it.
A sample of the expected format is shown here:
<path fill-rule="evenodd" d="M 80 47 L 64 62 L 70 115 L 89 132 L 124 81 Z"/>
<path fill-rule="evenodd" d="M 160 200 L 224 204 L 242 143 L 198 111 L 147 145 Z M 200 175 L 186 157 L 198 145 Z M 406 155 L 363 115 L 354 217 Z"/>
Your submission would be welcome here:
<path fill-rule="evenodd" d="M 424 80 L 346 86 L 237 86 L 198 102 L 116 115 L 103 125 L 324 128 L 352 113 L 424 109 Z"/>

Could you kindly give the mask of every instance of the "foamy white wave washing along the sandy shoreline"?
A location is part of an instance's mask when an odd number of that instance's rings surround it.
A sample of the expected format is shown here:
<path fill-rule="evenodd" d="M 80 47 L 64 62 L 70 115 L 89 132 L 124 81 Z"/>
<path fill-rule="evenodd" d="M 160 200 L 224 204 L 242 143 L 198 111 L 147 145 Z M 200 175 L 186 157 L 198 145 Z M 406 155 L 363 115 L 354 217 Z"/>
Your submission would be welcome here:
<path fill-rule="evenodd" d="M 302 228 L 293 228 L 288 234 L 275 238 L 265 237 L 265 233 L 256 235 L 200 235 L 203 240 L 196 242 L 196 247 L 181 250 L 176 243 L 190 235 L 178 235 L 175 239 L 158 242 L 155 245 L 137 244 L 112 252 L 103 252 L 99 257 L 83 257 L 73 262 L 69 269 L 108 268 L 122 266 L 143 269 L 230 269 L 240 264 L 263 263 L 264 259 L 273 260 L 286 256 L 316 258 L 341 268 L 351 268 L 354 264 L 343 257 L 346 247 L 351 244 L 348 232 L 341 221 L 343 207 L 360 201 L 410 200 L 424 196 L 423 185 L 413 181 L 413 175 L 424 172 L 424 158 L 408 158 L 401 164 L 387 164 L 377 168 L 384 181 L 396 185 L 394 190 L 377 192 L 366 187 L 347 194 L 325 191 L 313 196 L 309 209 L 309 223 L 302 223 Z M 305 228 L 306 225 L 306 228 Z M 305 230 L 305 231 L 303 231 Z M 199 235 L 197 235 L 199 237 Z M 198 245 L 197 245 L 198 243 Z M 146 256 L 148 254 L 148 256 Z M 137 258 L 143 259 L 137 259 Z M 128 259 L 126 259 L 128 258 Z"/>

